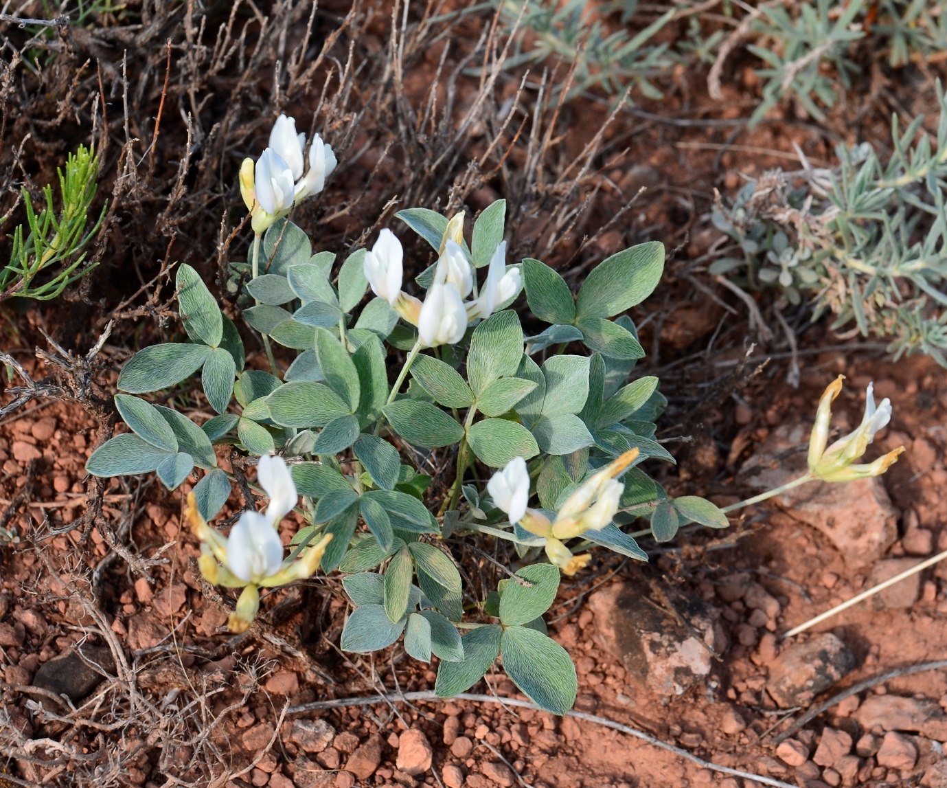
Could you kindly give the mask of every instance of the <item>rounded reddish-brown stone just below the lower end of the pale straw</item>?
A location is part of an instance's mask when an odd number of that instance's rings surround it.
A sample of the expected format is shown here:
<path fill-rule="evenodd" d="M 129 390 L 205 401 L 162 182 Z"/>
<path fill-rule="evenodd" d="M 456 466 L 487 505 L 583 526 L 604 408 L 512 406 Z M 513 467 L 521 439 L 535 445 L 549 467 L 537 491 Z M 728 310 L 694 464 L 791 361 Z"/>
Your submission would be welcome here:
<path fill-rule="evenodd" d="M 813 698 L 857 667 L 855 655 L 831 633 L 783 649 L 770 667 L 766 690 L 781 708 L 809 706 Z"/>

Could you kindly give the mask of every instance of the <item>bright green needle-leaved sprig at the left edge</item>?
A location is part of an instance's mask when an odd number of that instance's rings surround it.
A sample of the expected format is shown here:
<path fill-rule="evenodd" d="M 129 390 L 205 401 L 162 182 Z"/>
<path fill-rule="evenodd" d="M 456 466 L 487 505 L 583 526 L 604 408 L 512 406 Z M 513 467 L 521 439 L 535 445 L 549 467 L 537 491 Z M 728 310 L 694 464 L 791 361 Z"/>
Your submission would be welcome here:
<path fill-rule="evenodd" d="M 65 171 L 57 172 L 59 211 L 52 186 L 43 189 L 45 207 L 38 214 L 29 192 L 23 189 L 27 223 L 13 230 L 9 263 L 0 271 L 0 301 L 14 295 L 41 301 L 55 298 L 98 265 L 87 260 L 85 252 L 108 207 L 102 206 L 90 227 L 89 208 L 98 188 L 98 157 L 80 145 L 77 152 L 69 154 Z"/>

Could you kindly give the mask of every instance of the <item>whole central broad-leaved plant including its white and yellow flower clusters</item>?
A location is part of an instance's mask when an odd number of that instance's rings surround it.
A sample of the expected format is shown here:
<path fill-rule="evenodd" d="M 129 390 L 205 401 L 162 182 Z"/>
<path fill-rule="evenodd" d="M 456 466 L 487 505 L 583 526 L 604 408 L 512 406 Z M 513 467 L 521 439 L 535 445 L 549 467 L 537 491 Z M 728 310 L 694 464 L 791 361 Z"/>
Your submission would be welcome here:
<path fill-rule="evenodd" d="M 469 689 L 502 654 L 521 690 L 564 713 L 576 672 L 542 619 L 561 573 L 589 564 L 589 546 L 647 560 L 626 529 L 638 518 L 659 539 L 691 521 L 727 525 L 724 510 L 697 496 L 670 499 L 639 467 L 673 461 L 654 438 L 666 402 L 657 379 L 629 382 L 644 351 L 624 314 L 657 285 L 664 247 L 618 252 L 573 295 L 540 260 L 508 264 L 499 200 L 476 218 L 469 241 L 463 212 L 397 214 L 433 253 L 415 285 L 404 281 L 408 253 L 390 228 L 333 271 L 335 255 L 313 254 L 285 215 L 335 167 L 316 136 L 304 173 L 304 150 L 295 122 L 280 116 L 269 148 L 241 168 L 255 233 L 245 284 L 254 305 L 241 318 L 261 335 L 269 371 L 246 366 L 235 323 L 181 265 L 190 341 L 142 349 L 122 368 L 116 408 L 131 432 L 105 441 L 86 468 L 155 472 L 170 490 L 199 476 L 188 522 L 205 579 L 242 589 L 231 630 L 251 625 L 260 587 L 308 578 L 321 565 L 343 574 L 352 604 L 343 649 L 374 652 L 403 636 L 408 654 L 438 657 L 436 690 L 445 696 Z M 365 301 L 368 290 L 374 297 Z M 526 336 L 514 302 L 545 331 Z M 280 360 L 295 351 L 291 364 L 277 362 L 274 345 Z M 134 396 L 198 369 L 217 414 L 200 425 Z M 243 511 L 226 537 L 208 524 L 231 492 L 218 446 L 259 457 L 269 499 L 264 513 Z M 453 474 L 425 474 L 425 457 L 432 467 L 453 465 Z M 534 494 L 539 505 L 530 508 Z M 284 559 L 277 527 L 300 496 L 306 525 Z M 483 536 L 509 543 L 519 564 L 486 599 L 464 585 L 459 567 L 463 546 Z"/>

